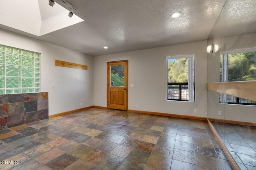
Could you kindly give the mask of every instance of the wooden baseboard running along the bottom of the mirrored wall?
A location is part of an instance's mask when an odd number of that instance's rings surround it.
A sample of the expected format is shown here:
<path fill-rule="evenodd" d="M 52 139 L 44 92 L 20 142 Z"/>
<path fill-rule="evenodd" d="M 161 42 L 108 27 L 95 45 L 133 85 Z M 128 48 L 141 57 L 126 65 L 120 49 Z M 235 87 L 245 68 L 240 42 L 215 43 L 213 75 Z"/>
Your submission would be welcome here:
<path fill-rule="evenodd" d="M 211 121 L 207 118 L 207 123 L 210 126 L 212 133 L 214 133 L 214 136 L 216 137 L 220 147 L 222 148 L 224 154 L 226 155 L 226 157 L 228 158 L 228 161 L 230 163 L 230 165 L 232 166 L 232 168 L 234 170 L 240 170 L 240 168 L 238 167 L 238 165 L 236 164 L 236 161 L 234 160 L 234 158 L 232 157 L 232 155 L 230 154 L 230 152 L 228 151 L 227 147 L 224 145 L 223 141 L 221 140 L 220 136 L 218 135 L 218 133 L 216 132 L 215 128 L 213 127 Z"/>

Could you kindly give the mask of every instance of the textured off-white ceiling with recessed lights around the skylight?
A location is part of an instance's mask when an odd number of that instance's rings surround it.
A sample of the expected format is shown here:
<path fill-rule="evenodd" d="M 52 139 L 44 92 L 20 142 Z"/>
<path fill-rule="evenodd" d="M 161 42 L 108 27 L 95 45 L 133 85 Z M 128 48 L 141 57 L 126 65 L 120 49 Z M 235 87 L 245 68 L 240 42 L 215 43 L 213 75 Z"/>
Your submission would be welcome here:
<path fill-rule="evenodd" d="M 225 0 L 66 1 L 77 8 L 74 13 L 84 21 L 40 37 L 4 25 L 0 28 L 97 56 L 206 40 L 225 3 Z M 255 0 L 240 1 L 255 3 Z M 255 11 L 255 5 L 252 7 Z M 182 15 L 173 19 L 170 17 L 173 12 Z M 109 48 L 103 49 L 104 46 Z"/>

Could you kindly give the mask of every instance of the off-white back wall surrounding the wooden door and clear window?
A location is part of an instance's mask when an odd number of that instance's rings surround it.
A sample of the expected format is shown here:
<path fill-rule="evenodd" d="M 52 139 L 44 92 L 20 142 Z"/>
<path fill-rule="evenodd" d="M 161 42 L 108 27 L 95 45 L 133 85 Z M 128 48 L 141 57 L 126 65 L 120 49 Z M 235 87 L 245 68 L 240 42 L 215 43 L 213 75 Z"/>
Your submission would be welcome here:
<path fill-rule="evenodd" d="M 196 102 L 167 101 L 166 57 L 192 54 Z M 107 62 L 128 60 L 128 109 L 206 117 L 206 58 L 206 41 L 94 57 L 94 106 L 107 106 Z"/>

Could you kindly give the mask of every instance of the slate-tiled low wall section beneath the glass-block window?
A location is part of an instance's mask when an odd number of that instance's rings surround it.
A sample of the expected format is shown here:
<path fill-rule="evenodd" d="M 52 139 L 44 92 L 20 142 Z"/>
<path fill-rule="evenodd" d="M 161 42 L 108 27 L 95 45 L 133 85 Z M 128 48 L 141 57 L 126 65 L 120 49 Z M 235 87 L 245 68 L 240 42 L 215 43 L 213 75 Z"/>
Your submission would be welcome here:
<path fill-rule="evenodd" d="M 0 130 L 48 119 L 48 92 L 0 95 Z"/>

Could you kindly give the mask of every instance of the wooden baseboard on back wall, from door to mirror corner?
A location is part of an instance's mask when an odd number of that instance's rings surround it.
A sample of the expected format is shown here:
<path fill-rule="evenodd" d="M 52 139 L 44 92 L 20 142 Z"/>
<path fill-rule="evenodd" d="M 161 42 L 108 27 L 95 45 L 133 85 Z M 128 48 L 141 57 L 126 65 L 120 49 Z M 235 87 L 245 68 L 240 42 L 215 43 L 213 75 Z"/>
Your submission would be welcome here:
<path fill-rule="evenodd" d="M 130 112 L 134 113 L 144 113 L 144 114 L 150 114 L 150 115 L 160 115 L 160 116 L 168 116 L 168 117 L 179 117 L 179 118 L 185 118 L 185 119 L 196 119 L 196 120 L 204 120 L 206 121 L 206 117 L 197 117 L 197 116 L 188 116 L 188 115 L 176 115 L 176 114 L 169 114 L 169 113 L 159 113 L 159 112 L 152 112 L 152 111 L 141 111 L 141 110 L 130 110 Z"/>

